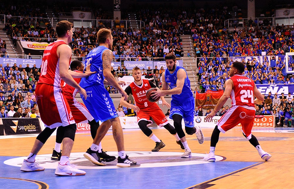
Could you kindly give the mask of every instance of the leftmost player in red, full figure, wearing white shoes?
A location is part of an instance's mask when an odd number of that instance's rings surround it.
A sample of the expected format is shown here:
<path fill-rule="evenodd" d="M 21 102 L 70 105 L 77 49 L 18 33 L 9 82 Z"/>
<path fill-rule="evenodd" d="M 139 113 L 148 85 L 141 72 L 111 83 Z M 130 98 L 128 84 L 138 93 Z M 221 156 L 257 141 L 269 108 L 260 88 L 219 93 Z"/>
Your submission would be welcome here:
<path fill-rule="evenodd" d="M 35 163 L 35 158 L 54 128 L 64 127 L 63 149 L 60 162 L 55 175 L 79 176 L 86 172 L 71 166 L 69 155 L 74 144 L 76 123 L 71 113 L 68 102 L 64 99 L 62 86 L 64 82 L 77 89 L 86 98 L 86 91 L 74 81 L 75 78 L 88 77 L 95 72 L 87 69 L 85 73 L 69 70 L 71 62 L 71 48 L 73 24 L 69 21 L 60 21 L 56 24 L 57 41 L 46 47 L 43 54 L 41 76 L 36 87 L 37 104 L 41 120 L 46 128 L 37 136 L 28 158 L 21 165 L 21 171 L 42 171 L 45 168 Z"/>

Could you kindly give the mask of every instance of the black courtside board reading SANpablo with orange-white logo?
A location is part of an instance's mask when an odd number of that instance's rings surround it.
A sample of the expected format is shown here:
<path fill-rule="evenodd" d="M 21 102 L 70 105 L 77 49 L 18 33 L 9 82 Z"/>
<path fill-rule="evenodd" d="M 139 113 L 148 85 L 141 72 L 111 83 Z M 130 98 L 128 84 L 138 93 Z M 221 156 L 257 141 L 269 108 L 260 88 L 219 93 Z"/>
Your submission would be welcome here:
<path fill-rule="evenodd" d="M 39 118 L 2 118 L 5 135 L 41 133 Z"/>

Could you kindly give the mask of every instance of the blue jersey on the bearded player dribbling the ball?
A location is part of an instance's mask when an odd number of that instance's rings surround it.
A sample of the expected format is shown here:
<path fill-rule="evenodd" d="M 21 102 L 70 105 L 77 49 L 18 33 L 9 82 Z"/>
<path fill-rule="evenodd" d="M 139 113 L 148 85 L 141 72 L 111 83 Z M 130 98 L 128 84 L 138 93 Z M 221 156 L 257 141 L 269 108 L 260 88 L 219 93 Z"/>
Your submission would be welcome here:
<path fill-rule="evenodd" d="M 165 75 L 164 75 L 165 81 L 166 81 L 166 83 L 168 83 L 168 85 L 171 89 L 173 89 L 177 86 L 177 79 L 178 79 L 177 72 L 179 69 L 185 70 L 185 68 L 183 68 L 181 66 L 176 66 L 176 70 L 172 74 L 168 71 L 168 69 L 165 70 Z M 185 72 L 186 72 L 186 70 L 185 70 Z M 171 96 L 171 98 L 176 101 L 185 101 L 190 98 L 193 98 L 193 93 L 192 93 L 192 90 L 190 87 L 190 80 L 188 78 L 187 72 L 186 72 L 186 79 L 185 79 L 185 83 L 184 83 L 181 94 L 173 94 Z"/>

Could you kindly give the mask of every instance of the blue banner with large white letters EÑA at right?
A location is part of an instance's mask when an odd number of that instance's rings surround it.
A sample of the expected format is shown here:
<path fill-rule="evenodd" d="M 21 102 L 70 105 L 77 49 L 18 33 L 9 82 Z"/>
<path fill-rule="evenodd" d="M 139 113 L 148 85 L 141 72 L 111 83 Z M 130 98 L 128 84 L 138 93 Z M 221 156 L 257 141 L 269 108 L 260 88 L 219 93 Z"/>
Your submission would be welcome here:
<path fill-rule="evenodd" d="M 288 93 L 294 94 L 294 84 L 257 84 L 256 87 L 258 91 L 265 96 L 267 96 L 269 92 L 272 94 L 277 93 L 278 95 L 284 93 L 285 96 L 287 96 Z"/>

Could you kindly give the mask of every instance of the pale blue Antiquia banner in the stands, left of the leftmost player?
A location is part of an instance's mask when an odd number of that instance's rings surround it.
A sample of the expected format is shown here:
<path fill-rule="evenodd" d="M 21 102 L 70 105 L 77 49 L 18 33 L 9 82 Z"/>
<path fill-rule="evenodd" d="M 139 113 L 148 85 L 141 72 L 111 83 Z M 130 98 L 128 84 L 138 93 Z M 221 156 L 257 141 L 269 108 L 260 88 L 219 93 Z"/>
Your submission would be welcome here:
<path fill-rule="evenodd" d="M 6 64 L 9 64 L 9 67 L 12 67 L 16 63 L 16 66 L 22 65 L 23 68 L 26 67 L 27 64 L 29 64 L 30 68 L 36 64 L 37 68 L 41 67 L 42 60 L 41 59 L 23 59 L 23 58 L 0 58 L 0 64 L 3 66 L 6 66 Z"/>

